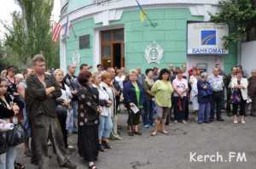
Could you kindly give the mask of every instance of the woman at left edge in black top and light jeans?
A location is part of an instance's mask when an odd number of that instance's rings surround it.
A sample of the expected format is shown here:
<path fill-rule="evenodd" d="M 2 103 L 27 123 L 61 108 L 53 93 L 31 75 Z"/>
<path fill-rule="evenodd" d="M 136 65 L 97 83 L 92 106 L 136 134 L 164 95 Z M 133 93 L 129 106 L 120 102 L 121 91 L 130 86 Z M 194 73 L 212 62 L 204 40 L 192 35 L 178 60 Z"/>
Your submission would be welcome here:
<path fill-rule="evenodd" d="M 13 103 L 11 97 L 7 94 L 8 82 L 6 79 L 0 78 L 0 119 L 5 122 L 17 123 L 17 118 L 21 103 Z M 18 106 L 20 104 L 20 107 Z M 7 140 L 9 142 L 9 140 Z M 15 169 L 16 148 L 9 146 L 5 153 L 0 155 L 1 169 Z"/>

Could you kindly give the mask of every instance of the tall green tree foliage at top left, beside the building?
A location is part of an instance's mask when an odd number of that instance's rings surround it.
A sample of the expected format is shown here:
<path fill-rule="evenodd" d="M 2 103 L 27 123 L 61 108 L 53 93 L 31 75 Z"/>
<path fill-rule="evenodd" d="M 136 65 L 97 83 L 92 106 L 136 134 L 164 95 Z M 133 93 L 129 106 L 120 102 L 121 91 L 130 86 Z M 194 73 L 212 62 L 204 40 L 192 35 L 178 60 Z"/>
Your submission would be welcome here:
<path fill-rule="evenodd" d="M 18 59 L 21 65 L 27 65 L 33 55 L 44 54 L 48 67 L 59 67 L 58 46 L 51 41 L 50 15 L 54 0 L 16 2 L 22 12 L 14 12 L 12 25 L 5 25 L 8 30 L 5 46 L 13 52 L 7 58 Z M 18 66 L 20 63 L 15 62 L 13 65 Z"/>

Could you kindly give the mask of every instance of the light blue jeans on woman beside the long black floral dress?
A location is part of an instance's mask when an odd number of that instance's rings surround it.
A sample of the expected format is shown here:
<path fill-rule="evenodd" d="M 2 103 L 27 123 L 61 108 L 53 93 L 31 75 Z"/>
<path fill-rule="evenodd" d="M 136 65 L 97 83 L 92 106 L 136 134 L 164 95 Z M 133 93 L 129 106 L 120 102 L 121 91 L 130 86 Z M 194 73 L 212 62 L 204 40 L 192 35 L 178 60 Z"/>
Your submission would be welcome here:
<path fill-rule="evenodd" d="M 113 122 L 110 115 L 100 115 L 99 139 L 109 138 L 113 128 Z"/>

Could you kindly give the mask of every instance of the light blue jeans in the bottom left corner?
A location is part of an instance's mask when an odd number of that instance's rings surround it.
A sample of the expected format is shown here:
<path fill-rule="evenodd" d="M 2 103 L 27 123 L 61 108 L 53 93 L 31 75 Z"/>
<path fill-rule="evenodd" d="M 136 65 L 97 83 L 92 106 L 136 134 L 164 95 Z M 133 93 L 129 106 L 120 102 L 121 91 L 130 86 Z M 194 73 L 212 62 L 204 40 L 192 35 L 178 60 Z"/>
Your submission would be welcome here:
<path fill-rule="evenodd" d="M 15 169 L 16 147 L 9 147 L 6 153 L 0 155 L 0 169 Z"/>

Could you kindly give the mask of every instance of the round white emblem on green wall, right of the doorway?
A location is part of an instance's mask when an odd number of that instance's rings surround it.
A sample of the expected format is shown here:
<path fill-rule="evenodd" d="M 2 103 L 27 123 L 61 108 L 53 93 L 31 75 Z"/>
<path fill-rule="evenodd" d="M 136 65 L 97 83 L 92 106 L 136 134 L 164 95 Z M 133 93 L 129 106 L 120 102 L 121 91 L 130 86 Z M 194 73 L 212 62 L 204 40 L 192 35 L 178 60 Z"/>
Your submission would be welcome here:
<path fill-rule="evenodd" d="M 148 64 L 160 64 L 160 60 L 164 57 L 164 49 L 157 42 L 151 42 L 145 49 L 145 59 Z"/>

